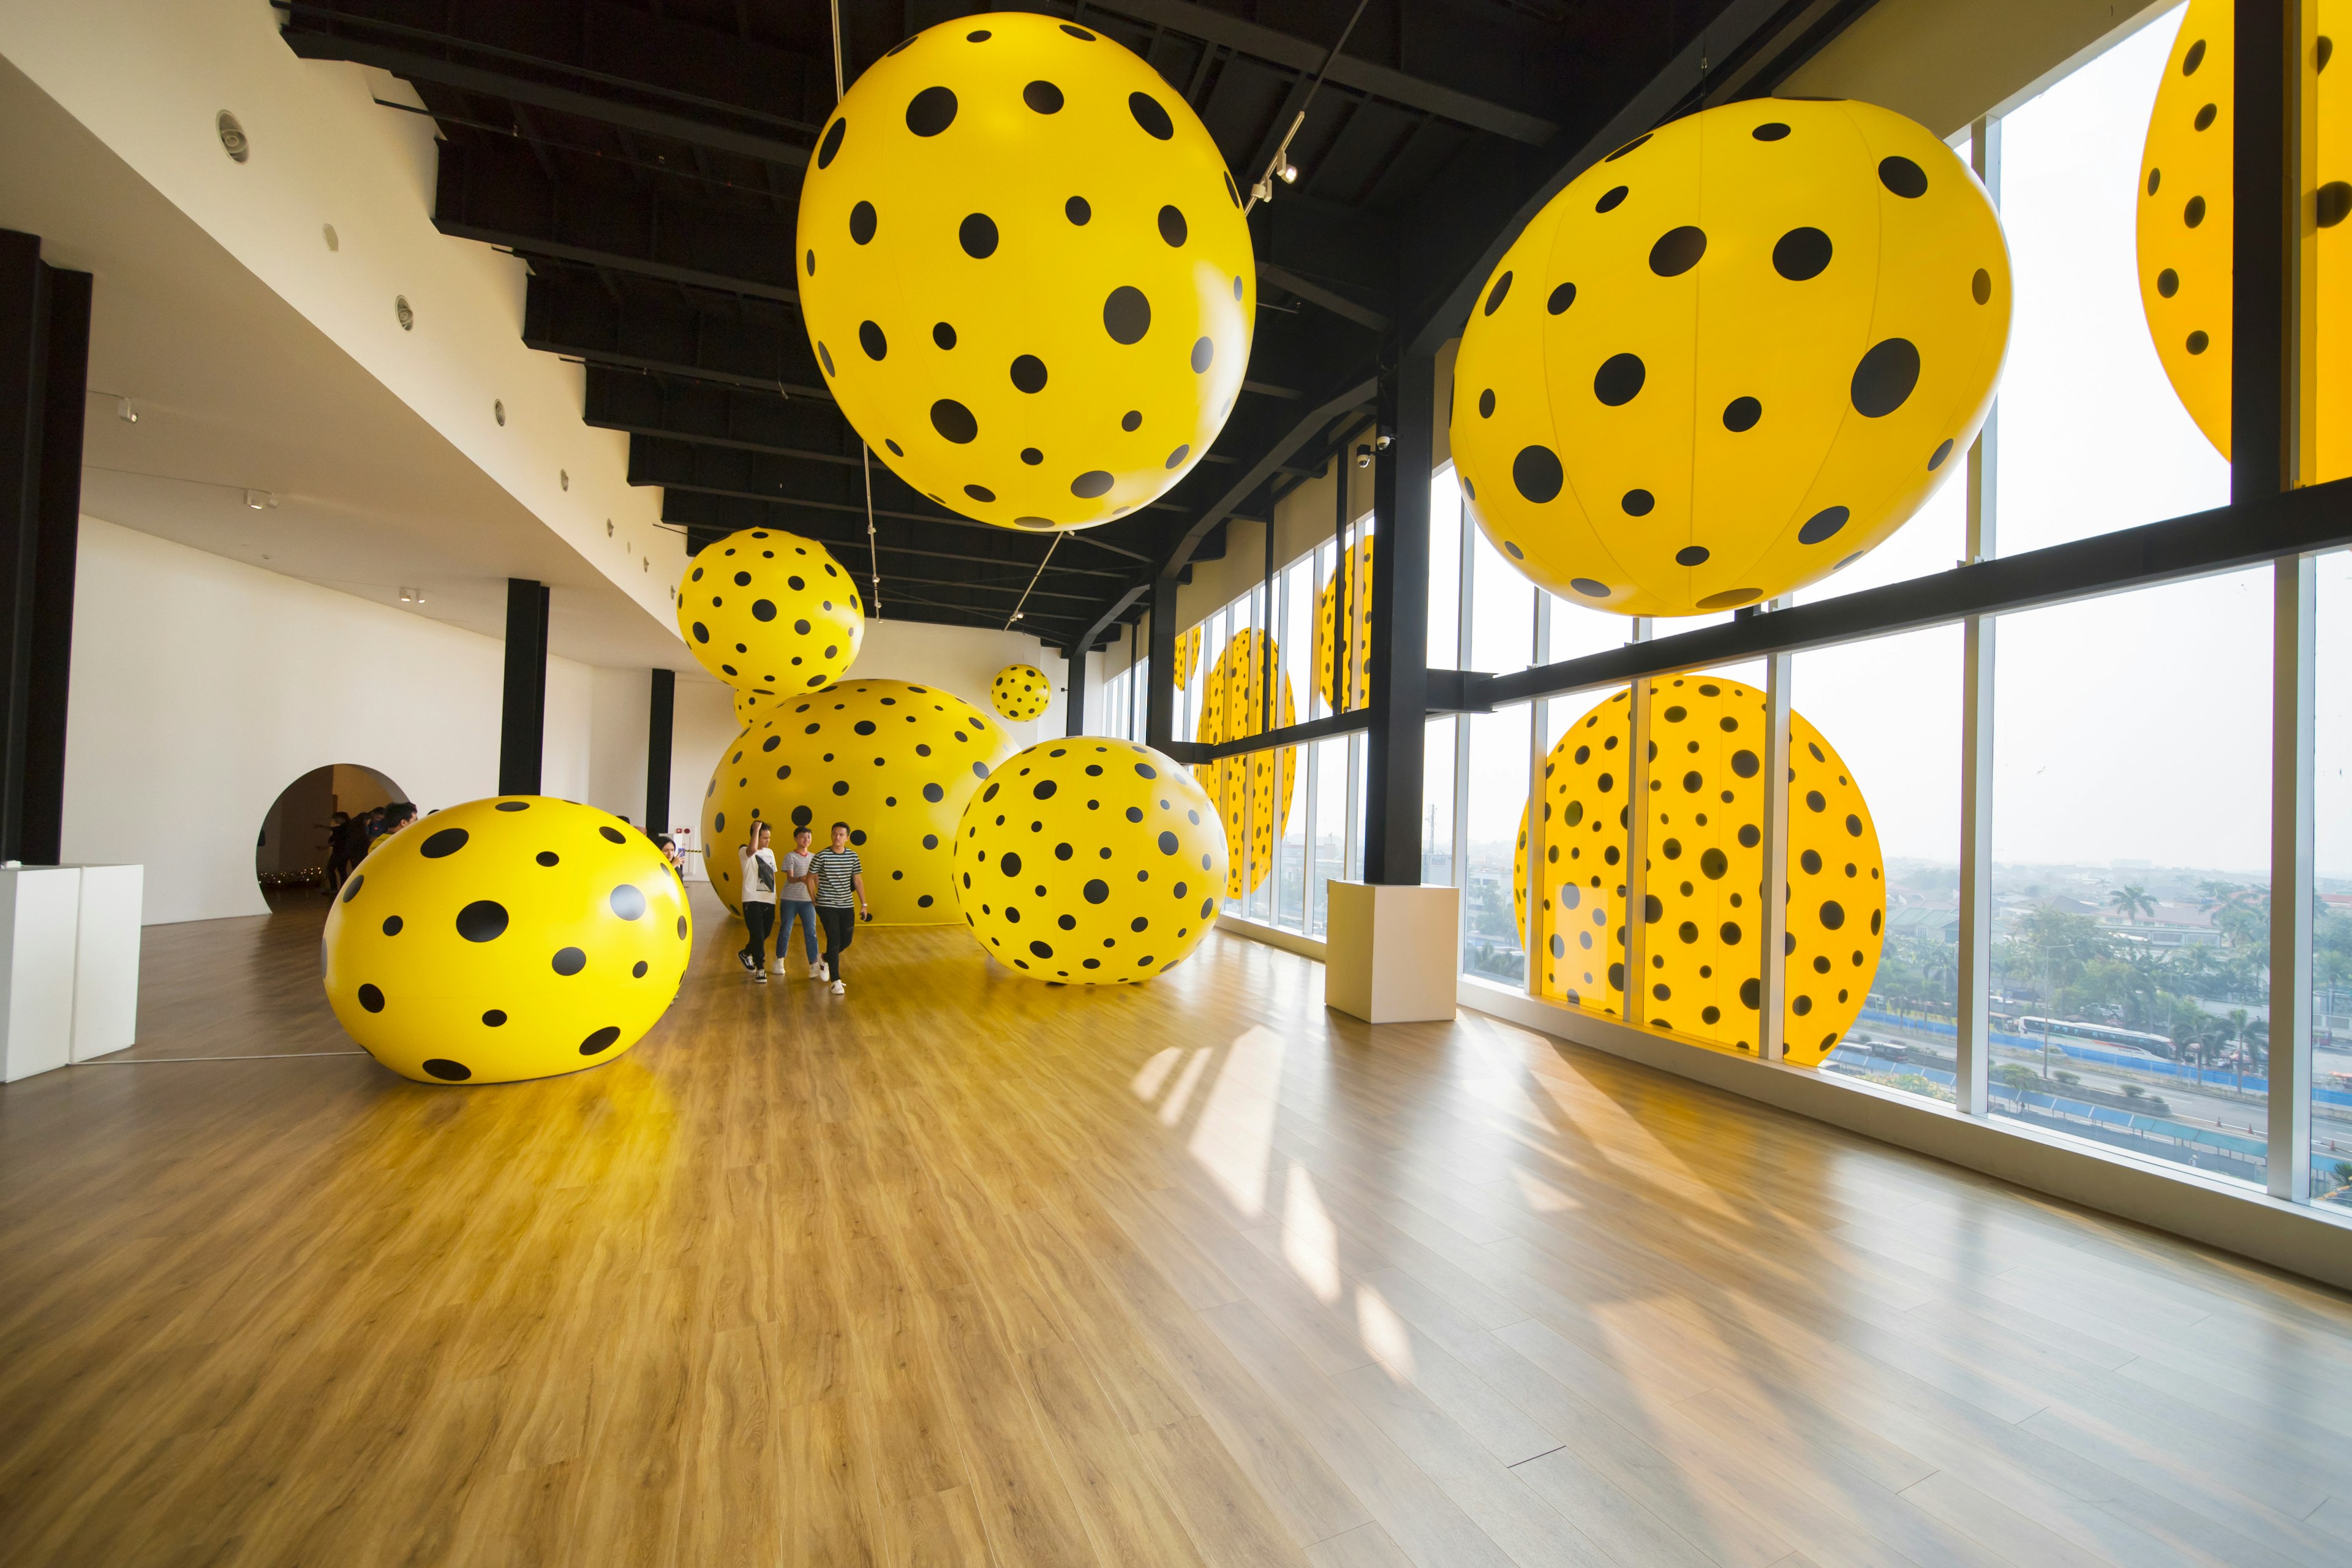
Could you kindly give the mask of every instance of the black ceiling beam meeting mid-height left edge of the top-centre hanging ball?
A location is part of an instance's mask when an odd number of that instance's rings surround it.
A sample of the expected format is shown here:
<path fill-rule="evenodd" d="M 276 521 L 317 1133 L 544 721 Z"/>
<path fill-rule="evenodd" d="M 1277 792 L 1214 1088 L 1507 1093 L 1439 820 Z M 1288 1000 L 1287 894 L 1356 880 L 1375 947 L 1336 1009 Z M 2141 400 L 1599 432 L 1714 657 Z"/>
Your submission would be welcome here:
<path fill-rule="evenodd" d="M 433 226 L 524 254 L 800 301 L 790 212 L 687 202 L 633 186 L 557 183 L 515 141 L 440 143 Z"/>

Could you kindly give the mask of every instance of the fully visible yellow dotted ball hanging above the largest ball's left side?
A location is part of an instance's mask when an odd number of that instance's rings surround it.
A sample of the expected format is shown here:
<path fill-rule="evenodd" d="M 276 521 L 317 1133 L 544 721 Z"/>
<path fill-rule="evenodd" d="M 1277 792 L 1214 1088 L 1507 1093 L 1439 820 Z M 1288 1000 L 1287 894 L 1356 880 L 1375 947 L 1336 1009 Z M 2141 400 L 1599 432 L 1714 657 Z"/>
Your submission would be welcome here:
<path fill-rule="evenodd" d="M 741 529 L 687 559 L 677 632 L 696 663 L 739 691 L 814 691 L 858 656 L 866 602 L 814 538 Z"/>

